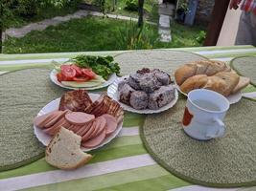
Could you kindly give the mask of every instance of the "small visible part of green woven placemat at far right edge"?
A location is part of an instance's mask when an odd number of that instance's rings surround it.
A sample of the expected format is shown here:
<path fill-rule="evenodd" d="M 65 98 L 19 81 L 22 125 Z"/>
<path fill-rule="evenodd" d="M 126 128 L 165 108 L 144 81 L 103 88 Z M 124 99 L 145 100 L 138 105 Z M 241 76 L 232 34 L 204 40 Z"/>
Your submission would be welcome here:
<path fill-rule="evenodd" d="M 236 57 L 231 60 L 230 66 L 238 74 L 249 77 L 251 84 L 256 86 L 256 56 Z"/>

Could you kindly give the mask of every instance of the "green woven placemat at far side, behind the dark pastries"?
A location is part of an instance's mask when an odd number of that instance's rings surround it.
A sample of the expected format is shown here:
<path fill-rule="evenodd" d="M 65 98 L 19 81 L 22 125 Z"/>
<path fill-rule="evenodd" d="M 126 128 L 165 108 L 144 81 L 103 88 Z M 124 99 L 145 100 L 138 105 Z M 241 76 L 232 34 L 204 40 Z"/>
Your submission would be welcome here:
<path fill-rule="evenodd" d="M 115 56 L 115 61 L 120 64 L 122 75 L 134 73 L 143 67 L 174 74 L 175 70 L 184 63 L 202 59 L 207 58 L 196 53 L 167 50 L 136 51 Z"/>

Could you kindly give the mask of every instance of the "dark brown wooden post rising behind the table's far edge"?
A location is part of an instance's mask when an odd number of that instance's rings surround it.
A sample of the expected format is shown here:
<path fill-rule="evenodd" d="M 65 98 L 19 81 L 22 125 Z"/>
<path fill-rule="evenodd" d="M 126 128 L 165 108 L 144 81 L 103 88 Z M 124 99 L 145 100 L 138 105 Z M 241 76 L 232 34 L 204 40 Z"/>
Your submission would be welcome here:
<path fill-rule="evenodd" d="M 204 46 L 216 46 L 228 5 L 229 0 L 215 0 Z"/>

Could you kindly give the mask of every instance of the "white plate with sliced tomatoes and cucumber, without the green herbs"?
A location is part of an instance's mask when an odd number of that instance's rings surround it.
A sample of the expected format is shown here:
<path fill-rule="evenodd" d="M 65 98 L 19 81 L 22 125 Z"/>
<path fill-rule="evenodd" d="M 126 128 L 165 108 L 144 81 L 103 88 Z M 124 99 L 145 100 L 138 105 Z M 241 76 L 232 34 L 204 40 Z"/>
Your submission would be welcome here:
<path fill-rule="evenodd" d="M 110 74 L 105 80 L 90 68 L 80 68 L 75 64 L 63 64 L 59 70 L 54 69 L 51 72 L 50 78 L 62 88 L 96 90 L 112 84 L 116 79 L 116 74 Z"/>

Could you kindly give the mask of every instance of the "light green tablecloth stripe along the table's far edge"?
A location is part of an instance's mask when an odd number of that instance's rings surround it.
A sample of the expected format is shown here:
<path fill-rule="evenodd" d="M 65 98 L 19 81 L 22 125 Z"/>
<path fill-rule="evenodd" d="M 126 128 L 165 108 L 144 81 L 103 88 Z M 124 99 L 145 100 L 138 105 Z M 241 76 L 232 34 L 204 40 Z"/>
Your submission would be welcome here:
<path fill-rule="evenodd" d="M 237 50 L 237 49 L 250 49 L 253 46 L 232 46 L 232 47 L 196 47 L 196 48 L 178 48 L 178 49 L 165 49 L 175 51 L 223 51 L 223 50 Z M 162 49 L 160 49 L 162 50 Z M 76 56 L 80 53 L 91 55 L 115 55 L 118 53 L 126 53 L 128 51 L 109 51 L 109 52 L 79 52 L 79 53 L 24 53 L 24 54 L 0 54 L 0 61 L 4 60 L 19 60 L 19 59 L 50 59 L 50 58 L 69 58 Z"/>

